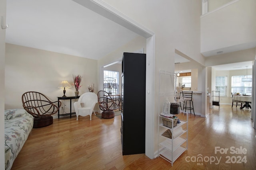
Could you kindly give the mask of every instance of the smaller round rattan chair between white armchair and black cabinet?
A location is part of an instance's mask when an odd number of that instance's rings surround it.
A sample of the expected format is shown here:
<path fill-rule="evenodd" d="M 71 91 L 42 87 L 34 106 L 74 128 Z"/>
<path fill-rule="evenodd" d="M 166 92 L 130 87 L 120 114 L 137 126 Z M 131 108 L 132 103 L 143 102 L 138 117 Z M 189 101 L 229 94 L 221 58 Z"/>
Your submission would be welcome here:
<path fill-rule="evenodd" d="M 108 92 L 101 90 L 98 92 L 98 104 L 103 111 L 101 117 L 110 119 L 115 117 L 114 110 L 120 107 L 120 98 L 113 100 Z"/>

